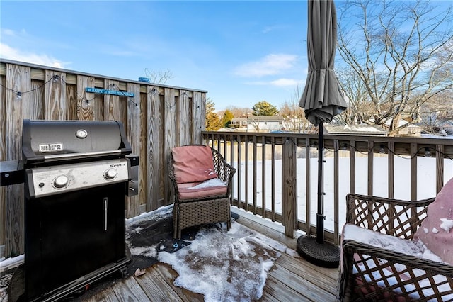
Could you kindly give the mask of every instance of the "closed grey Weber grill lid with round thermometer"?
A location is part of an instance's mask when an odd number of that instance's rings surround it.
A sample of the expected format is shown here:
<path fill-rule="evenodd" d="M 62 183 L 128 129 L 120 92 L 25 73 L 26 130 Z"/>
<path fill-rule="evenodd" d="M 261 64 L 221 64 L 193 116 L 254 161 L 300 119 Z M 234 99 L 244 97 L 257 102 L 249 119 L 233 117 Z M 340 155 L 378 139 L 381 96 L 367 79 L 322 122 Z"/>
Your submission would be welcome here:
<path fill-rule="evenodd" d="M 132 152 L 118 121 L 23 120 L 22 126 L 25 165 L 124 157 Z"/>

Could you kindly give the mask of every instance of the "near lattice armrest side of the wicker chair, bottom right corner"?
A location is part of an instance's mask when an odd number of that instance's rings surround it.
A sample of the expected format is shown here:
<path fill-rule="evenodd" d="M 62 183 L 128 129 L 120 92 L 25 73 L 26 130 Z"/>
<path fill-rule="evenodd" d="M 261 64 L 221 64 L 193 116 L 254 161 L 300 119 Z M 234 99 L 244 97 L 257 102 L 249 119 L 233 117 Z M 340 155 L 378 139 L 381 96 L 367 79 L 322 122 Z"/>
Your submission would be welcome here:
<path fill-rule="evenodd" d="M 452 298 L 453 266 L 406 255 L 355 240 L 343 240 L 338 278 L 340 300 Z M 358 296 L 358 297 L 357 297 Z"/>

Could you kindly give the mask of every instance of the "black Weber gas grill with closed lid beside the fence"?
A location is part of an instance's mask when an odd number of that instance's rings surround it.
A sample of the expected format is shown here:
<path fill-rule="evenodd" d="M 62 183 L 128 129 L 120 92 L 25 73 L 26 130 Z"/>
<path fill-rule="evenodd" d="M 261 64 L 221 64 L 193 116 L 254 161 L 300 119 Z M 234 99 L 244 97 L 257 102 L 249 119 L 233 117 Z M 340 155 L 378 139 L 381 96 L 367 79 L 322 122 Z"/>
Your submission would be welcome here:
<path fill-rule="evenodd" d="M 56 300 L 123 269 L 138 157 L 116 121 L 23 121 L 25 299 Z"/>

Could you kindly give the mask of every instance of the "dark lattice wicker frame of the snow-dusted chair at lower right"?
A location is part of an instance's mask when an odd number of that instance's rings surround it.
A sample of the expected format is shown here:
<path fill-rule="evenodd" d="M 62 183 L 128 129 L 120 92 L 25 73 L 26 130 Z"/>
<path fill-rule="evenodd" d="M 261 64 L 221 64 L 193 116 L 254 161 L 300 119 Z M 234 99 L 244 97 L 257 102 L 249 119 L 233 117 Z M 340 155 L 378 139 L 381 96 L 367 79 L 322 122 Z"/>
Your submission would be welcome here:
<path fill-rule="evenodd" d="M 411 240 L 434 200 L 348 194 L 346 223 Z M 341 249 L 337 301 L 453 301 L 452 265 L 350 239 Z"/>

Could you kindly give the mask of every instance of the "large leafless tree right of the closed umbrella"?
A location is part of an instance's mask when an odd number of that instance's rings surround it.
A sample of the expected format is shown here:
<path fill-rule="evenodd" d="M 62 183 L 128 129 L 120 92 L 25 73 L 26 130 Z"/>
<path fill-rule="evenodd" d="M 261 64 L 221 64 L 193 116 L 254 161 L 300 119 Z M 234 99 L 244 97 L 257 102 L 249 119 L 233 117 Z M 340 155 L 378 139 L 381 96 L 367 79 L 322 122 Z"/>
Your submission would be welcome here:
<path fill-rule="evenodd" d="M 434 11 L 429 1 L 344 1 L 338 11 L 346 121 L 389 121 L 394 135 L 408 125 L 399 125 L 401 118 L 420 121 L 424 104 L 453 89 L 452 6 Z"/>

